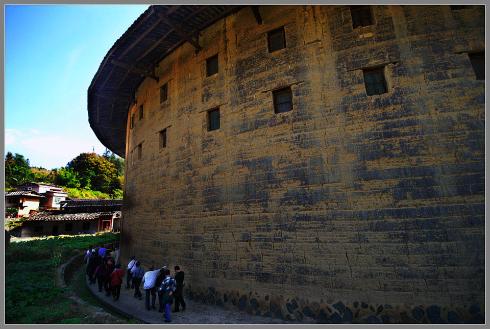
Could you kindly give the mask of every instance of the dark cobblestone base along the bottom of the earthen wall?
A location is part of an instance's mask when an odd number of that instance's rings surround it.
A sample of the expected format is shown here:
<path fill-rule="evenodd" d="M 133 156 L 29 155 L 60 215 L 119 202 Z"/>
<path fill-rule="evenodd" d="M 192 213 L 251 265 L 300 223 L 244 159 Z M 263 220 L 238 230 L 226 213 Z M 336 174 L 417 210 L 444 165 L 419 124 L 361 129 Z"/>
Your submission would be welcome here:
<path fill-rule="evenodd" d="M 256 291 L 225 290 L 187 285 L 187 298 L 207 305 L 238 309 L 248 314 L 305 323 L 485 323 L 481 305 L 389 305 L 362 300 L 327 303 L 307 298 L 269 295 Z"/>

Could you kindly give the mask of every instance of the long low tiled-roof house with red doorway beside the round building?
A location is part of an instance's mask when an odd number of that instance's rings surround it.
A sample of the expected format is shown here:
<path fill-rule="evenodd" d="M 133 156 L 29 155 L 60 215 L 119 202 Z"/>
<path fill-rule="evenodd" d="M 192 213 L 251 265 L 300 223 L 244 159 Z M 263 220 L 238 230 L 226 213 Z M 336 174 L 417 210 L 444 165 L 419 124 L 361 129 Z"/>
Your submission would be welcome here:
<path fill-rule="evenodd" d="M 59 210 L 24 218 L 21 237 L 119 232 L 122 199 L 69 198 L 60 203 Z"/>

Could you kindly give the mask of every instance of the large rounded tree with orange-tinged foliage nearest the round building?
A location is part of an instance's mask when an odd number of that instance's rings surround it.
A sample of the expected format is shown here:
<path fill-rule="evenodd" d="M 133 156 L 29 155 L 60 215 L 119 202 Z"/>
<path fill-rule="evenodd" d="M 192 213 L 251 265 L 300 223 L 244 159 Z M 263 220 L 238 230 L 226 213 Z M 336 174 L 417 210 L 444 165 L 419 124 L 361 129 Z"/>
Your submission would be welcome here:
<path fill-rule="evenodd" d="M 67 168 L 78 173 L 80 186 L 92 190 L 111 193 L 120 189 L 117 170 L 105 157 L 95 153 L 82 153 L 68 162 Z"/>

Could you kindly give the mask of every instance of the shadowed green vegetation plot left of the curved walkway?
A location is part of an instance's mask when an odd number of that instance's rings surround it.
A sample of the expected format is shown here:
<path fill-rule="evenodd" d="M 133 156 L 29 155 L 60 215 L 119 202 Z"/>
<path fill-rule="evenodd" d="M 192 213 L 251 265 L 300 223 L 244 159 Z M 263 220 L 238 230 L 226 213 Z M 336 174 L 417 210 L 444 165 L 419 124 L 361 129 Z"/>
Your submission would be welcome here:
<path fill-rule="evenodd" d="M 21 252 L 23 255 L 28 255 L 29 259 L 15 262 L 11 260 L 5 264 L 5 322 L 90 323 L 94 321 L 91 318 L 82 318 L 77 314 L 72 302 L 64 297 L 64 292 L 71 290 L 71 287 L 56 286 L 56 268 L 65 262 L 66 258 L 73 256 L 73 252 L 76 254 L 75 249 L 84 250 L 118 239 L 119 234 L 103 233 L 12 243 L 13 250 L 8 250 L 6 256 L 12 252 Z M 80 272 L 85 279 L 85 271 Z M 71 318 L 67 318 L 69 316 Z"/>

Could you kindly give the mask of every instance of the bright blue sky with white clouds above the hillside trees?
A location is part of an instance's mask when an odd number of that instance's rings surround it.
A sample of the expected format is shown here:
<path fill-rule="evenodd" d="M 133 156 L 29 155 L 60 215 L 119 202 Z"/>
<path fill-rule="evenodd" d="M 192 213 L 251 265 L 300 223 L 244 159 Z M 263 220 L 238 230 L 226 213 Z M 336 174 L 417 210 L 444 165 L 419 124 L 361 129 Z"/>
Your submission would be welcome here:
<path fill-rule="evenodd" d="M 5 153 L 65 166 L 105 147 L 88 124 L 87 90 L 144 6 L 5 6 Z"/>

